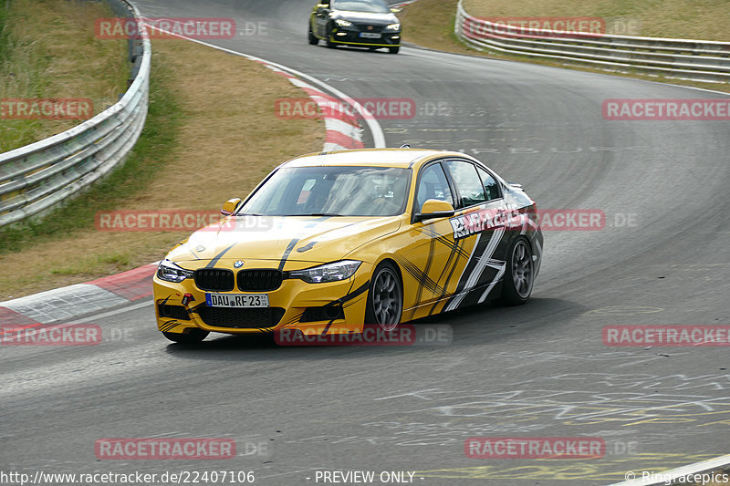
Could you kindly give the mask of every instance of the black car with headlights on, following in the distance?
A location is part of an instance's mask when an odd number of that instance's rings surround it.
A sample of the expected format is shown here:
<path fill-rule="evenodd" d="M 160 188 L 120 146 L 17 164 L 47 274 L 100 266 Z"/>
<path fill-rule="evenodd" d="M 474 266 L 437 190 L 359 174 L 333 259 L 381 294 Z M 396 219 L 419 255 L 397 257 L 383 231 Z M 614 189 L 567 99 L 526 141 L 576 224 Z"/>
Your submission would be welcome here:
<path fill-rule="evenodd" d="M 309 16 L 309 44 L 324 40 L 327 47 L 401 48 L 401 22 L 397 10 L 382 0 L 321 0 Z"/>

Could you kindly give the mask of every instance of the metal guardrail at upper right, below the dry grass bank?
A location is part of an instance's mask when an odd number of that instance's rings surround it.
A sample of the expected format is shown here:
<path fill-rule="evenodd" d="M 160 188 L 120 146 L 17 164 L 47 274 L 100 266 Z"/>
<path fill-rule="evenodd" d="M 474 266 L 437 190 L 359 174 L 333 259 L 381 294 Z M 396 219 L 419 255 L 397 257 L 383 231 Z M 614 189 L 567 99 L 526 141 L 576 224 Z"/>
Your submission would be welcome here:
<path fill-rule="evenodd" d="M 730 42 L 596 34 L 560 36 L 470 16 L 459 0 L 454 33 L 479 50 L 588 63 L 612 71 L 694 81 L 730 82 Z"/>

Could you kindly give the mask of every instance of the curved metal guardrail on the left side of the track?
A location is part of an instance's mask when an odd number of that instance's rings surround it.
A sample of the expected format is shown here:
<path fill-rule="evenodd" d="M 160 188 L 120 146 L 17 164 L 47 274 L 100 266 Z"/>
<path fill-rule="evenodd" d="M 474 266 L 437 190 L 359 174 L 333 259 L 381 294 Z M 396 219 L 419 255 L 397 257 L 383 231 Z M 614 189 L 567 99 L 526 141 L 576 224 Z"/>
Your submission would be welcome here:
<path fill-rule="evenodd" d="M 125 0 L 108 0 L 114 14 L 141 15 Z M 0 227 L 38 216 L 78 194 L 124 160 L 147 118 L 151 43 L 130 39 L 132 79 L 120 101 L 46 140 L 0 153 Z"/>

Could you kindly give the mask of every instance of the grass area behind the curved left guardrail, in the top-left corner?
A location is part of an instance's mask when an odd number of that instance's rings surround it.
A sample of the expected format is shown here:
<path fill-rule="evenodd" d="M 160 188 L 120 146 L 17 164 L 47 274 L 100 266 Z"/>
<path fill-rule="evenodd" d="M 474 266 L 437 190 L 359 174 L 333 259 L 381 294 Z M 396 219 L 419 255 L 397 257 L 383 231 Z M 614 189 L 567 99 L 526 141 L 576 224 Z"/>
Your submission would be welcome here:
<path fill-rule="evenodd" d="M 104 2 L 0 0 L 0 98 L 90 98 L 94 112 L 126 89 L 126 41 L 94 36 Z M 0 152 L 43 140 L 83 120 L 3 119 Z"/>

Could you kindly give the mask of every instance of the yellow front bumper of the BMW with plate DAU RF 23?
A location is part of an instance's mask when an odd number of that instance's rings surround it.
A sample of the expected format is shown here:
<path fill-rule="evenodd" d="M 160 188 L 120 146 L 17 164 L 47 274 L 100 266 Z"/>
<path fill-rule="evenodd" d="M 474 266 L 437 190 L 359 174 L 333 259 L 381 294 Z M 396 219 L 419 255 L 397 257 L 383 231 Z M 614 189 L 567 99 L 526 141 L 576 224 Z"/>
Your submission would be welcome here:
<path fill-rule="evenodd" d="M 221 260 L 215 268 L 233 268 L 230 262 Z M 185 262 L 188 270 L 203 268 L 205 261 Z M 246 260 L 246 267 L 276 269 L 278 262 Z M 288 265 L 287 265 L 288 266 Z M 301 263 L 298 268 L 315 264 Z M 363 263 L 347 280 L 326 284 L 308 284 L 296 278 L 287 278 L 273 291 L 244 292 L 237 288 L 215 294 L 266 294 L 269 307 L 229 308 L 209 307 L 205 303 L 206 292 L 198 288 L 193 278 L 177 284 L 153 279 L 154 307 L 157 327 L 160 331 L 184 333 L 189 328 L 226 334 L 273 333 L 284 328 L 299 329 L 306 335 L 359 333 L 365 320 L 365 305 L 370 264 Z M 188 295 L 188 298 L 185 298 Z"/>

